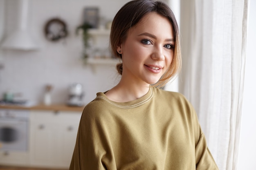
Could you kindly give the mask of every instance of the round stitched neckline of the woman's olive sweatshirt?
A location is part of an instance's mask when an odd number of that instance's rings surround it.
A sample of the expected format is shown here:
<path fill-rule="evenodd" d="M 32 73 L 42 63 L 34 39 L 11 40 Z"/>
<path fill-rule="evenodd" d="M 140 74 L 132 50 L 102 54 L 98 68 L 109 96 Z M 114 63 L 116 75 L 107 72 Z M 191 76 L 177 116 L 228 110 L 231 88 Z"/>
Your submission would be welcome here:
<path fill-rule="evenodd" d="M 102 92 L 97 93 L 97 97 L 95 99 L 103 99 L 106 102 L 112 104 L 113 106 L 117 106 L 119 108 L 135 108 L 147 103 L 148 101 L 150 101 L 150 99 L 152 99 L 152 97 L 153 97 L 153 89 L 151 87 L 149 88 L 149 91 L 148 93 L 146 93 L 146 95 L 130 102 L 114 102 L 108 99 L 105 93 L 102 93 Z"/>

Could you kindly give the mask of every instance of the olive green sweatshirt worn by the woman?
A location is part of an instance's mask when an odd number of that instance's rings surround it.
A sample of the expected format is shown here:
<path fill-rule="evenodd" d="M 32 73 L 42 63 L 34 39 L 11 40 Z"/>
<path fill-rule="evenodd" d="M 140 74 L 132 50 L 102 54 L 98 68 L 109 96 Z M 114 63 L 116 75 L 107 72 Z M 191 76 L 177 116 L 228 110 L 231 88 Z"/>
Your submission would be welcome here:
<path fill-rule="evenodd" d="M 131 102 L 104 93 L 85 106 L 70 170 L 218 170 L 194 108 L 150 88 Z"/>

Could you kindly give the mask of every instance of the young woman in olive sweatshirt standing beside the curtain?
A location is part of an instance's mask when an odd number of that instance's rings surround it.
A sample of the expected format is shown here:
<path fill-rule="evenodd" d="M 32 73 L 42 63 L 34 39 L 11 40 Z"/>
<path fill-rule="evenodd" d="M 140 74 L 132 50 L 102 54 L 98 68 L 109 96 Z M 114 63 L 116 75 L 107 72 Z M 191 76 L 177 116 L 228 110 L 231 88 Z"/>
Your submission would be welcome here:
<path fill-rule="evenodd" d="M 171 9 L 128 2 L 112 22 L 110 44 L 121 80 L 85 106 L 70 170 L 217 170 L 193 106 L 159 89 L 180 70 Z"/>

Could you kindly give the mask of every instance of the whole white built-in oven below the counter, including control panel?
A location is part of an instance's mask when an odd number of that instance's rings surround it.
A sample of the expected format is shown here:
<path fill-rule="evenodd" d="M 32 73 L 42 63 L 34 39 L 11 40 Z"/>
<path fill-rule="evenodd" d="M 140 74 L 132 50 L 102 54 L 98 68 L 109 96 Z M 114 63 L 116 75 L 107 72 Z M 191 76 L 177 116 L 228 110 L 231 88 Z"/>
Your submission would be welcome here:
<path fill-rule="evenodd" d="M 0 109 L 0 150 L 27 151 L 29 111 Z"/>

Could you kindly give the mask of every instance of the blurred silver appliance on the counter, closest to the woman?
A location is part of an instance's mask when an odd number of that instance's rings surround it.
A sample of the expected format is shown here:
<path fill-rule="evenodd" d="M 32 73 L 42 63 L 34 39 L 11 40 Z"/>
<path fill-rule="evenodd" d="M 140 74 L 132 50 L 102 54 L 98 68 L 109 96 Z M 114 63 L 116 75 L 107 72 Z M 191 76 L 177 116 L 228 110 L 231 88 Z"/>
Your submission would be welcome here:
<path fill-rule="evenodd" d="M 68 106 L 83 106 L 83 88 L 81 84 L 72 84 L 69 87 Z"/>

